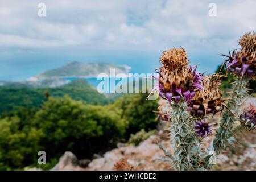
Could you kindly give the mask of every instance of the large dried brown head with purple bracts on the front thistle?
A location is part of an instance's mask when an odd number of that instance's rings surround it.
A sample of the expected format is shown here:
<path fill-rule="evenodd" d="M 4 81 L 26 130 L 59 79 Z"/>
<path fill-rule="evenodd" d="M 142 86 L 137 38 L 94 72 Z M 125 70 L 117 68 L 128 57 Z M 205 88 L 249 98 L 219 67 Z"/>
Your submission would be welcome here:
<path fill-rule="evenodd" d="M 159 69 L 159 95 L 169 102 L 179 102 L 181 98 L 189 101 L 197 90 L 203 89 L 200 85 L 201 76 L 196 68 L 188 68 L 187 53 L 183 48 L 172 48 L 164 51 L 160 61 L 163 67 Z"/>

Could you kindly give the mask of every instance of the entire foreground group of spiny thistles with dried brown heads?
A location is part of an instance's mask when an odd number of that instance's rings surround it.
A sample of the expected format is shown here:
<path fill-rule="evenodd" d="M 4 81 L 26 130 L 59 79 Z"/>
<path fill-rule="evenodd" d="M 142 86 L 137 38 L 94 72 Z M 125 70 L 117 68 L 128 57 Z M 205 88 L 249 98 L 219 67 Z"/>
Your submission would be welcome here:
<path fill-rule="evenodd" d="M 188 67 L 187 53 L 183 48 L 164 51 L 158 68 L 159 118 L 170 121 L 170 138 L 173 154 L 159 147 L 168 156 L 175 169 L 205 170 L 216 164 L 217 156 L 225 150 L 226 144 L 234 142 L 234 131 L 242 128 L 255 129 L 256 110 L 239 114 L 245 100 L 250 79 L 256 76 L 256 34 L 245 34 L 239 41 L 241 49 L 230 54 L 222 65 L 234 75 L 233 88 L 227 98 L 222 98 L 220 73 L 204 76 Z M 228 101 L 228 104 L 225 102 Z M 210 147 L 203 139 L 213 135 L 209 117 L 221 113 L 220 126 Z M 236 123 L 236 125 L 235 125 Z M 236 127 L 235 127 L 236 126 Z"/>

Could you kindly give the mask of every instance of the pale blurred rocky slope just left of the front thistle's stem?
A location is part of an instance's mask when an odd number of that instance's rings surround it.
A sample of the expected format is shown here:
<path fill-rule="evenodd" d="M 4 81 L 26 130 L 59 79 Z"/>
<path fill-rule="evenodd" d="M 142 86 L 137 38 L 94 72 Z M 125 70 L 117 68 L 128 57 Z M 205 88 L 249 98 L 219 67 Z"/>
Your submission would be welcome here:
<path fill-rule="evenodd" d="M 159 160 L 160 156 L 164 156 L 157 144 L 159 140 L 159 136 L 153 135 L 137 147 L 115 148 L 106 152 L 102 158 L 92 160 L 86 170 L 113 170 L 120 159 L 127 159 L 127 162 L 134 166 L 135 169 L 170 170 L 170 164 Z M 167 147 L 168 141 L 162 141 L 162 144 Z"/>

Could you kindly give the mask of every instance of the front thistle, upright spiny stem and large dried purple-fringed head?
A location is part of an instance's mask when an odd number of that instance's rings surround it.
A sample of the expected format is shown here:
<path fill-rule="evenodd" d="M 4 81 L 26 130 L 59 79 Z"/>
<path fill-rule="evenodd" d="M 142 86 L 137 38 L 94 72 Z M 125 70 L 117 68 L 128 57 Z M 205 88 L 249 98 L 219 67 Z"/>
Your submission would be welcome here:
<path fill-rule="evenodd" d="M 183 48 L 172 48 L 164 51 L 160 61 L 163 67 L 159 68 L 158 91 L 167 110 L 160 111 L 171 121 L 170 137 L 174 154 L 170 156 L 174 167 L 178 170 L 196 169 L 196 135 L 193 134 L 193 119 L 188 112 L 188 102 L 196 92 L 203 89 L 201 76 L 196 67 L 188 67 L 187 53 Z M 163 105 L 159 107 L 162 108 Z"/>

